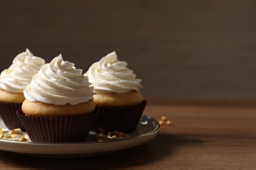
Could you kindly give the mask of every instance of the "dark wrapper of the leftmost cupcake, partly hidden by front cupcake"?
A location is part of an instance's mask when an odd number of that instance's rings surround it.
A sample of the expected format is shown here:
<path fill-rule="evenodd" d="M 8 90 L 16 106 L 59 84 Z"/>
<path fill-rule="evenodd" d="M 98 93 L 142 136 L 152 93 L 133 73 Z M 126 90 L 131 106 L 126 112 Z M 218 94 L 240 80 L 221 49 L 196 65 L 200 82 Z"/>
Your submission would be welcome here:
<path fill-rule="evenodd" d="M 0 103 L 0 114 L 3 122 L 9 129 L 20 128 L 24 130 L 22 123 L 16 115 L 16 111 L 20 109 L 22 104 Z"/>

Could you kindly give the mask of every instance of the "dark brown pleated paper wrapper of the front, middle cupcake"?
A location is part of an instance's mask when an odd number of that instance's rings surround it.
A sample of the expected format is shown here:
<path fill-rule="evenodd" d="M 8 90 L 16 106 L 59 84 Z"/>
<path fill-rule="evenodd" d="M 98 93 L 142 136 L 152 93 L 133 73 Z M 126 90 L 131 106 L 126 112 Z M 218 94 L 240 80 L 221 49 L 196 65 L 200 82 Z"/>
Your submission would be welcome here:
<path fill-rule="evenodd" d="M 75 143 L 87 138 L 98 112 L 79 116 L 36 117 L 16 112 L 30 139 L 35 143 Z"/>

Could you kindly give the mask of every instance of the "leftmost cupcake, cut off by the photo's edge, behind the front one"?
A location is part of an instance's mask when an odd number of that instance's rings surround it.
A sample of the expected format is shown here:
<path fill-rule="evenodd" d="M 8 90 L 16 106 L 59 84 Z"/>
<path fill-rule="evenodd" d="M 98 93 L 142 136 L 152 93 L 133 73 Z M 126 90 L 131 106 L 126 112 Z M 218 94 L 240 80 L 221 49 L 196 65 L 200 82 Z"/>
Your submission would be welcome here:
<path fill-rule="evenodd" d="M 26 49 L 16 56 L 9 69 L 2 71 L 0 75 L 0 114 L 5 125 L 10 129 L 24 127 L 16 116 L 16 110 L 21 108 L 25 100 L 23 91 L 30 84 L 35 75 L 45 63 L 45 60 Z"/>

